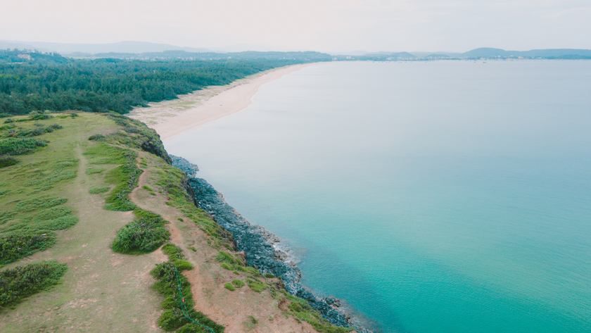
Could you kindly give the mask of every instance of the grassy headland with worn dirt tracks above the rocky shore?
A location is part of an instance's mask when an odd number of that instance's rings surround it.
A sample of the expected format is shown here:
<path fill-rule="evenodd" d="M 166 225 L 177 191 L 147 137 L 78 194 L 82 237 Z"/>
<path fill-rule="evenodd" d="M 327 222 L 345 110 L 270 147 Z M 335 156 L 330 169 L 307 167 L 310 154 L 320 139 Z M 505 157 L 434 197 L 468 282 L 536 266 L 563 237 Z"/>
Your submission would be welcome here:
<path fill-rule="evenodd" d="M 153 130 L 73 114 L 0 118 L 1 332 L 350 331 L 245 266 Z"/>

